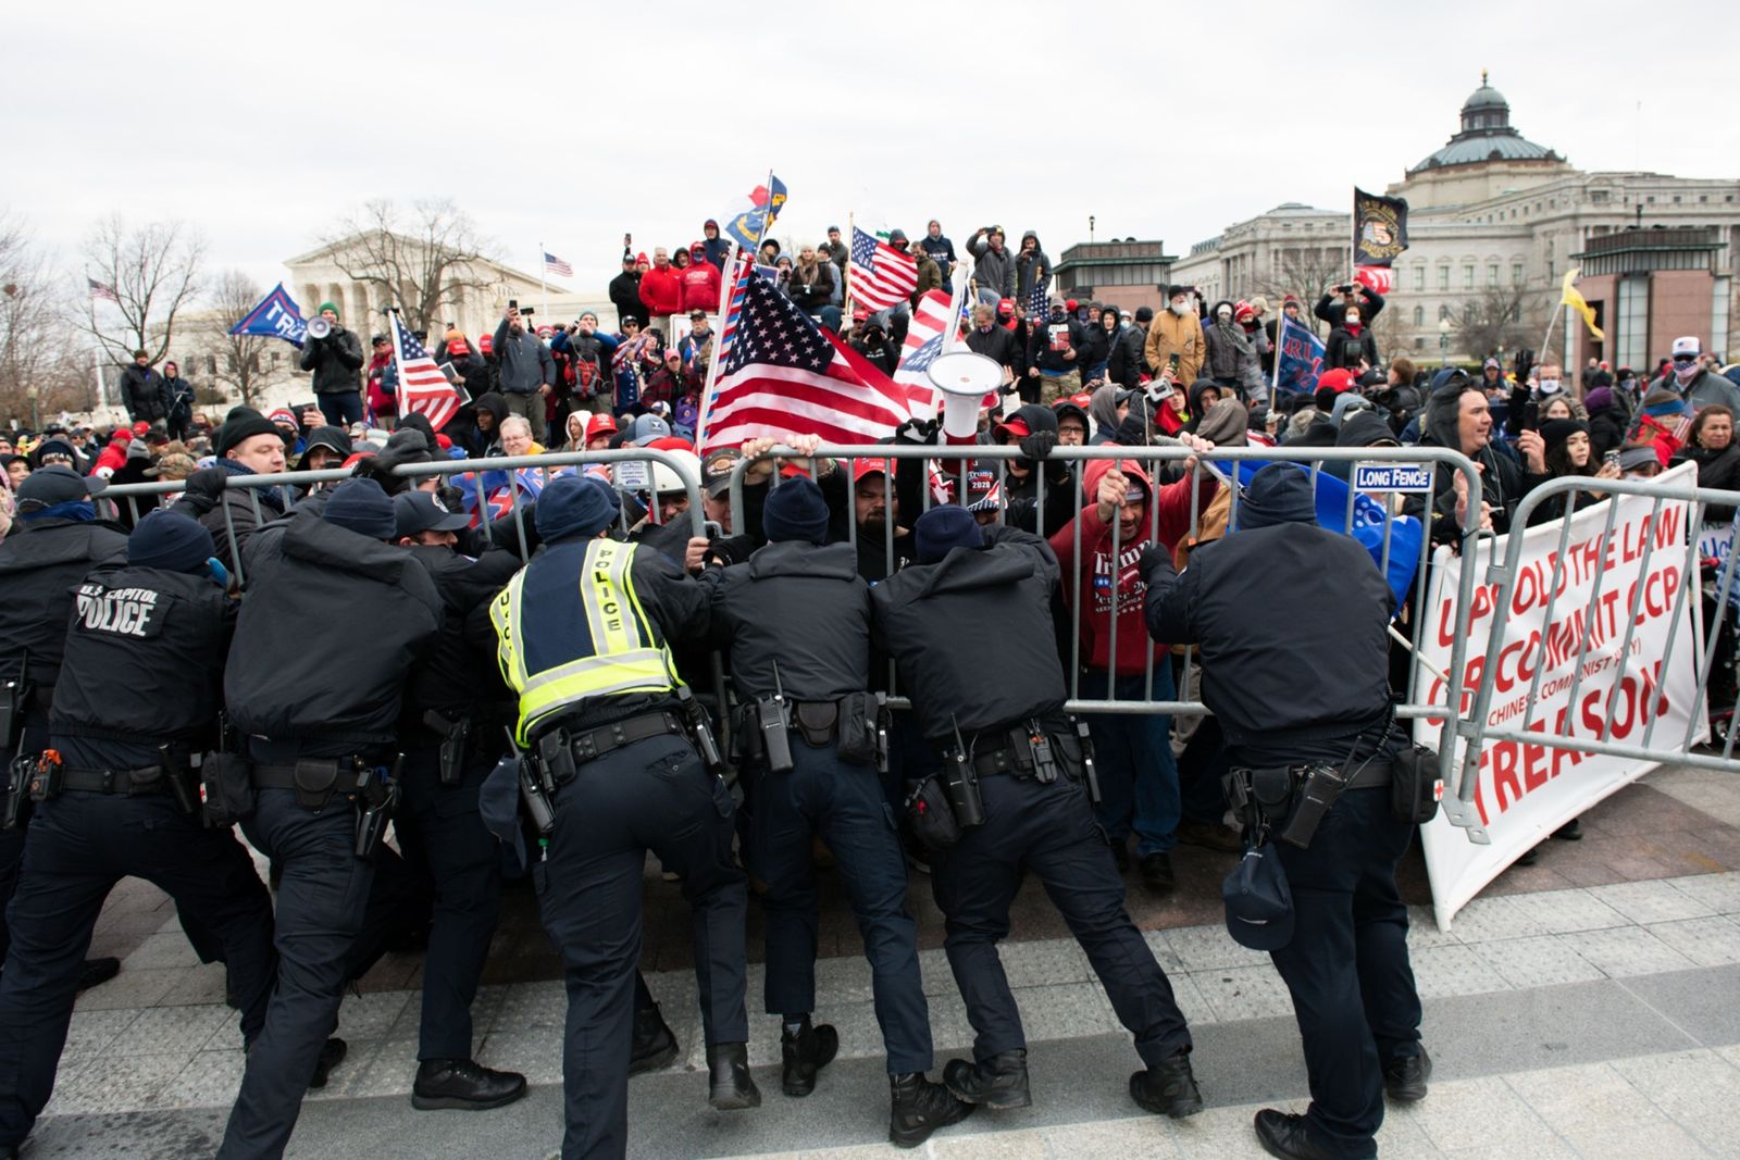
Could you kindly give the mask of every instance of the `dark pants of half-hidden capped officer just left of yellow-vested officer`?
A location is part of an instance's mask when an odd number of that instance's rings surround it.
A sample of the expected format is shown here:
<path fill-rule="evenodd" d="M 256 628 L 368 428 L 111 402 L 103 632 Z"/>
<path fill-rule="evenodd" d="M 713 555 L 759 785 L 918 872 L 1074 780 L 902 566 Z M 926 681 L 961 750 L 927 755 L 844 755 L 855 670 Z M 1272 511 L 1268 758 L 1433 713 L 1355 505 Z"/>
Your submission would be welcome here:
<path fill-rule="evenodd" d="M 459 784 L 444 786 L 440 746 L 405 750 L 393 833 L 435 890 L 418 1059 L 472 1057 L 472 1000 L 501 918 L 501 854 L 477 812 L 477 791 L 494 767 L 496 753 L 484 753 L 466 763 Z"/>

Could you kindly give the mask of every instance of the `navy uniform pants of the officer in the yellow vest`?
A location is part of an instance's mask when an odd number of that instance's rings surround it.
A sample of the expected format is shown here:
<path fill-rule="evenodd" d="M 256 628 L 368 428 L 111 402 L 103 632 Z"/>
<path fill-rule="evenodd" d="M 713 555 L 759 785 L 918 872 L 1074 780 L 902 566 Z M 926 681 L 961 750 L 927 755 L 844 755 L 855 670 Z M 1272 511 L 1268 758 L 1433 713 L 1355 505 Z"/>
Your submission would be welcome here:
<path fill-rule="evenodd" d="M 545 930 L 562 957 L 567 1030 L 562 1160 L 628 1148 L 628 1056 L 646 856 L 682 878 L 706 1043 L 748 1042 L 743 1010 L 746 885 L 731 857 L 724 783 L 679 736 L 583 762 L 555 791 L 555 831 L 532 864 Z M 807 852 L 807 847 L 806 847 Z"/>

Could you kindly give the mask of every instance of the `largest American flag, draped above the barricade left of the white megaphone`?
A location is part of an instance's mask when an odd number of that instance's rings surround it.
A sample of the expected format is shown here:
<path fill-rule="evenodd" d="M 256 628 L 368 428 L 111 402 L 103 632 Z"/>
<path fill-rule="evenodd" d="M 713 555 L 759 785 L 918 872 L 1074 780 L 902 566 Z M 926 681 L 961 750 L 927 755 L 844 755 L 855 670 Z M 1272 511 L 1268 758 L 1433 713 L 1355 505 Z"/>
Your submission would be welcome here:
<path fill-rule="evenodd" d="M 818 330 L 753 270 L 733 283 L 720 343 L 698 440 L 703 456 L 757 437 L 873 443 L 910 417 L 903 388 Z"/>

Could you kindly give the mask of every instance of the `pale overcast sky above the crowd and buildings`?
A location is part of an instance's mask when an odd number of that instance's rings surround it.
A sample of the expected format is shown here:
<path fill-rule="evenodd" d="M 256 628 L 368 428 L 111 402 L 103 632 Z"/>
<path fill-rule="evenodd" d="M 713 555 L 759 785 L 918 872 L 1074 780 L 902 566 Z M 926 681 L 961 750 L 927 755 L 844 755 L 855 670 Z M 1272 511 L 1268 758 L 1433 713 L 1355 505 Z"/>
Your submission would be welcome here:
<path fill-rule="evenodd" d="M 198 223 L 211 270 L 270 285 L 364 198 L 451 197 L 508 264 L 536 273 L 541 240 L 602 296 L 625 230 L 686 243 L 773 167 L 785 242 L 856 210 L 957 243 L 1032 228 L 1056 257 L 1093 214 L 1183 254 L 1401 179 L 1482 68 L 1582 169 L 1740 177 L 1730 0 L 546 10 L 9 3 L 0 205 L 73 278 L 122 210 Z"/>

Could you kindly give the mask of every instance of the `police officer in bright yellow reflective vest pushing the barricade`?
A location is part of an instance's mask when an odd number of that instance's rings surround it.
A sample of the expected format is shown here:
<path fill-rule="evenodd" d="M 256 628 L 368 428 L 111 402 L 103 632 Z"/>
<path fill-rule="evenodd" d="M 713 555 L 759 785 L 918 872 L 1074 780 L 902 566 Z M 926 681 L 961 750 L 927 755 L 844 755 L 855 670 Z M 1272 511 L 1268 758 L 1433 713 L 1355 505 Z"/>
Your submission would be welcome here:
<path fill-rule="evenodd" d="M 675 560 L 604 537 L 614 515 L 606 487 L 579 477 L 545 487 L 536 515 L 545 551 L 491 605 L 501 675 L 520 699 L 527 807 L 539 830 L 548 823 L 532 880 L 567 974 L 564 1160 L 626 1150 L 647 850 L 677 871 L 694 911 L 708 1103 L 760 1104 L 748 1070 L 746 887 L 731 856 L 731 795 L 696 755 L 694 741 L 705 750 L 712 737 L 691 741 L 698 706 L 666 643 L 705 637 L 708 595 Z"/>

